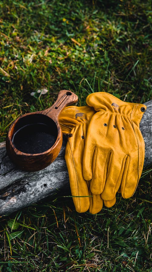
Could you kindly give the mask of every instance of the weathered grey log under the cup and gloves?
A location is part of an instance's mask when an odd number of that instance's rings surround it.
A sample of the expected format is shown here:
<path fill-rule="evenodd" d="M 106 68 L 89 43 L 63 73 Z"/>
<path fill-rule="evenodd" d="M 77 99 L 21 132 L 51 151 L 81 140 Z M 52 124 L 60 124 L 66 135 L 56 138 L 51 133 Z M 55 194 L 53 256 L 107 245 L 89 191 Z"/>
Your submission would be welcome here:
<path fill-rule="evenodd" d="M 145 141 L 144 168 L 152 164 L 152 100 L 140 122 Z M 0 215 L 10 214 L 55 194 L 70 193 L 64 153 L 66 140 L 56 160 L 38 172 L 19 170 L 7 156 L 5 142 L 0 143 Z"/>

